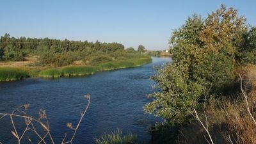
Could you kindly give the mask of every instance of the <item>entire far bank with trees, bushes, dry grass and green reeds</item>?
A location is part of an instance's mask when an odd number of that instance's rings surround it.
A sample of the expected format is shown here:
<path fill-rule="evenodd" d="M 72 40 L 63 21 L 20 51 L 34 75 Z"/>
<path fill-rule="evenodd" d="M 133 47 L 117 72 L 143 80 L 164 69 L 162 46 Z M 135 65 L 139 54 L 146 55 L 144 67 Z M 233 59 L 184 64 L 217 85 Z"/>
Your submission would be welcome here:
<path fill-rule="evenodd" d="M 69 40 L 11 38 L 0 39 L 1 81 L 13 81 L 24 77 L 70 77 L 95 74 L 103 70 L 138 67 L 152 60 L 143 45 L 138 51 L 124 49 L 118 43 L 76 42 Z M 12 76 L 26 72 L 26 76 Z"/>

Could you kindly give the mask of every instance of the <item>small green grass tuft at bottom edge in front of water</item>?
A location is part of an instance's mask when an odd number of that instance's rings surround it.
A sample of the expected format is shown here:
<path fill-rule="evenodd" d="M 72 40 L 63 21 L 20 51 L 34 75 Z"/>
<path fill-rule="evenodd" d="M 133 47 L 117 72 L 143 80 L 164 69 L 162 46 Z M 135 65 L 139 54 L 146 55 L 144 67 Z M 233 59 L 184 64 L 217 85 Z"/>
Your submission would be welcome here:
<path fill-rule="evenodd" d="M 104 134 L 95 141 L 96 144 L 138 144 L 138 136 L 136 134 L 122 136 L 122 131 L 118 129 L 111 134 Z"/>

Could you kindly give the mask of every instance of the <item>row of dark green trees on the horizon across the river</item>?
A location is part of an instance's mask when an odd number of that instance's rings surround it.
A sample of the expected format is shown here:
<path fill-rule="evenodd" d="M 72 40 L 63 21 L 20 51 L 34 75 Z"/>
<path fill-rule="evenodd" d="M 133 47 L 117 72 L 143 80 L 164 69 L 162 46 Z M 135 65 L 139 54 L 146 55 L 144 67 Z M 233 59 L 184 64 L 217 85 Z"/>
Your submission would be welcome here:
<path fill-rule="evenodd" d="M 123 51 L 124 45 L 116 42 L 93 43 L 88 41 L 56 40 L 50 38 L 14 38 L 5 34 L 0 38 L 0 60 L 21 61 L 27 55 L 58 54 L 58 56 L 69 55 L 70 52 L 81 52 L 83 56 L 94 52 Z M 135 51 L 129 48 L 128 51 Z M 139 45 L 138 52 L 147 51 L 143 45 Z M 67 56 L 65 56 L 65 59 Z"/>

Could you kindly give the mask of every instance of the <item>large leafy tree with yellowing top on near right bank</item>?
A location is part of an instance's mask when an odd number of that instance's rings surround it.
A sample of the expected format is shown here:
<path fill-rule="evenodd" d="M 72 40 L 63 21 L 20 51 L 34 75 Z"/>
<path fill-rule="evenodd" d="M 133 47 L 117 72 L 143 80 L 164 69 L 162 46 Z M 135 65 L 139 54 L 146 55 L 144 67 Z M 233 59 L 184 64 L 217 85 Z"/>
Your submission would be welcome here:
<path fill-rule="evenodd" d="M 145 106 L 145 111 L 173 124 L 189 122 L 193 109 L 202 110 L 205 95 L 221 95 L 234 83 L 236 65 L 255 63 L 254 31 L 255 28 L 248 30 L 237 10 L 225 6 L 205 20 L 198 15 L 189 17 L 186 24 L 173 31 L 173 62 L 154 77 L 161 92 L 149 95 L 154 100 Z"/>

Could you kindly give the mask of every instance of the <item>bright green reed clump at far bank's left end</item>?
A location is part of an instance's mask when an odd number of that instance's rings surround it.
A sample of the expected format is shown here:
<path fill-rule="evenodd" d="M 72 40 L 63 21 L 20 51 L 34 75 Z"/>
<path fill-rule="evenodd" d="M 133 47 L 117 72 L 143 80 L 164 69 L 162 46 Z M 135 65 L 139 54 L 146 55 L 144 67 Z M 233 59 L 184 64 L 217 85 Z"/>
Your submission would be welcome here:
<path fill-rule="evenodd" d="M 24 79 L 28 76 L 24 70 L 20 68 L 1 67 L 0 68 L 0 81 L 17 81 Z"/>

